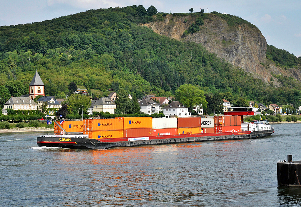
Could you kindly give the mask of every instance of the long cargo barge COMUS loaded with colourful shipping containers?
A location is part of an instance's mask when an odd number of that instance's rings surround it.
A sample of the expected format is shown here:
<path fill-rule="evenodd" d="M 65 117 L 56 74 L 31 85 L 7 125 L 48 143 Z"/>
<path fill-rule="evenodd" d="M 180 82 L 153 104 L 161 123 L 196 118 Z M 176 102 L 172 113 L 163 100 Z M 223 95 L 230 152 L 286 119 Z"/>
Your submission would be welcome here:
<path fill-rule="evenodd" d="M 274 133 L 269 124 L 242 123 L 242 116 L 152 118 L 123 117 L 54 122 L 54 134 L 38 146 L 108 149 L 230 139 L 256 139 Z"/>

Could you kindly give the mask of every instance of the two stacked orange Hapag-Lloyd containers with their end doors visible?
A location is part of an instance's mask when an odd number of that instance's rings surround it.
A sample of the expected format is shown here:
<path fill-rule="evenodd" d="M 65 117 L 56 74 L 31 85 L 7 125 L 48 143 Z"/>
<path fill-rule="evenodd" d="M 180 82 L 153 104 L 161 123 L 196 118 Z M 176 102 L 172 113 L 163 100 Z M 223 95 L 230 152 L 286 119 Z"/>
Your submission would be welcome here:
<path fill-rule="evenodd" d="M 83 125 L 89 139 L 123 138 L 123 119 L 85 119 Z"/>

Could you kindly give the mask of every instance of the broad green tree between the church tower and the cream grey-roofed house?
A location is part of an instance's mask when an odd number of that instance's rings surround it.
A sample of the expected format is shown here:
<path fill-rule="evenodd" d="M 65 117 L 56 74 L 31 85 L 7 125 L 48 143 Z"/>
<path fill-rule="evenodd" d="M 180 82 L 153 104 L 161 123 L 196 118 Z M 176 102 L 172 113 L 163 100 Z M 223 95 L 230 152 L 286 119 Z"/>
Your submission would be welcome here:
<path fill-rule="evenodd" d="M 68 105 L 68 114 L 78 114 L 78 111 L 80 111 L 81 114 L 82 110 L 87 111 L 87 109 L 91 106 L 91 99 L 80 94 L 71 94 L 62 103 Z"/>

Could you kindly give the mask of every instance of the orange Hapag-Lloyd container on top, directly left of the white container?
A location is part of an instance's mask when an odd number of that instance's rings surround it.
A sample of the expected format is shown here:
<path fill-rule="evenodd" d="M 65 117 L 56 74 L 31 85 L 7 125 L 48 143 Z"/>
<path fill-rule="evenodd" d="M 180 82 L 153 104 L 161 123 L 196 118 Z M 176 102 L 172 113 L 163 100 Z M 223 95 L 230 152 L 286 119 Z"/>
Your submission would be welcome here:
<path fill-rule="evenodd" d="M 151 117 L 123 117 L 124 129 L 152 128 Z"/>

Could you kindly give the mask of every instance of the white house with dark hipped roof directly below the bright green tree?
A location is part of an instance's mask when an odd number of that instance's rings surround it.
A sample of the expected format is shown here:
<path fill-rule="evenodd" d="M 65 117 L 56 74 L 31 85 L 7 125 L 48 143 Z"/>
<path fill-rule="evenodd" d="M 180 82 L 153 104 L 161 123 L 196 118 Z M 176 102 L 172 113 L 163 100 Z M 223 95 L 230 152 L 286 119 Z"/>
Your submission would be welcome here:
<path fill-rule="evenodd" d="M 178 116 L 178 117 L 191 117 L 188 108 L 178 101 L 173 101 L 163 108 L 165 117 Z"/>

